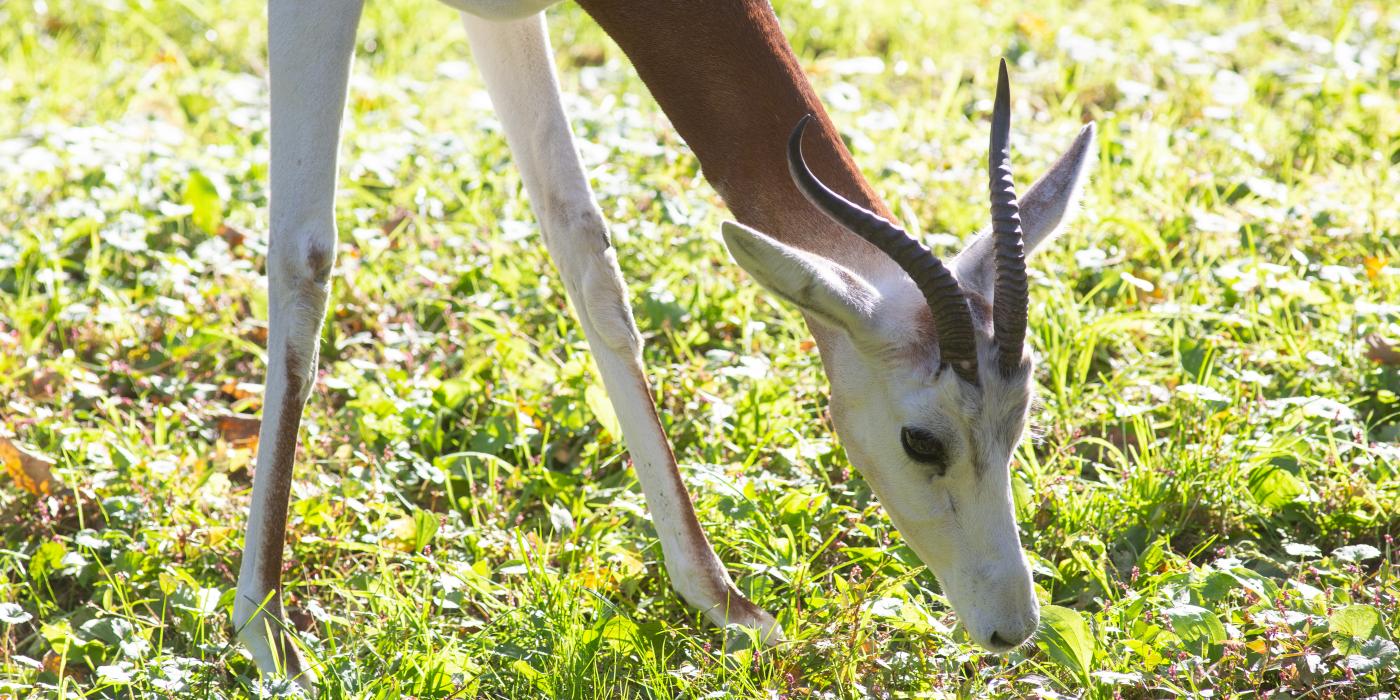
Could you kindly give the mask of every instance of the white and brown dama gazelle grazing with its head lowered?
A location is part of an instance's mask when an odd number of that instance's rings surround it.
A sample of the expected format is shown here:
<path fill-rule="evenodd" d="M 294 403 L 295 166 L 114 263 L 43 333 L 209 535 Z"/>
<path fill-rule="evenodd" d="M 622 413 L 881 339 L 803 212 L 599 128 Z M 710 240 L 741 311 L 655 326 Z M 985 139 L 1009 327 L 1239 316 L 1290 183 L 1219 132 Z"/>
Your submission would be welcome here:
<path fill-rule="evenodd" d="M 658 421 L 617 251 L 560 105 L 540 15 L 554 0 L 445 1 L 462 11 L 545 245 L 596 357 L 672 585 L 711 622 L 781 640 L 774 617 L 739 594 L 710 547 Z M 993 225 L 945 266 L 888 221 L 766 0 L 580 4 L 627 53 L 742 221 L 724 224 L 734 258 L 804 312 L 851 463 L 937 574 L 967 631 L 993 651 L 1025 641 L 1039 608 L 1009 486 L 1032 391 L 1025 253 L 1074 210 L 1093 155 L 1092 125 L 1018 207 L 1002 66 Z M 312 669 L 283 627 L 283 540 L 335 262 L 336 157 L 361 7 L 269 7 L 269 368 L 234 622 L 262 671 L 307 686 Z"/>

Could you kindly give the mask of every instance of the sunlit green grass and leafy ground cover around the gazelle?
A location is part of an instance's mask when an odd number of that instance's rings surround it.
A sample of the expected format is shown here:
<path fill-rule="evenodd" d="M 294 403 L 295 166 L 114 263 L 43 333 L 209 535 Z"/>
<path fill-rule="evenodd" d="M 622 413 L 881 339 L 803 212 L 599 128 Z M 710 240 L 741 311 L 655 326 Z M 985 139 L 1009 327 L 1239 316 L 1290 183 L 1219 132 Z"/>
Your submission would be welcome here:
<path fill-rule="evenodd" d="M 872 7 L 874 6 L 874 7 Z M 994 10 L 995 8 L 995 10 Z M 1400 686 L 1400 13 L 1390 3 L 783 1 L 857 161 L 941 251 L 1096 119 L 1033 265 L 1015 461 L 1046 624 L 973 647 L 853 473 L 801 318 L 617 49 L 552 13 L 662 420 L 755 650 L 669 592 L 519 175 L 431 1 L 372 1 L 288 605 L 326 697 L 1383 697 Z M 262 381 L 263 6 L 0 1 L 0 697 L 241 697 Z M 878 76 L 846 59 L 876 56 Z M 1035 115 L 1032 123 L 1028 118 Z M 223 235 L 220 235 L 223 230 Z M 503 235 L 503 231 L 505 235 Z M 599 417 L 601 416 L 601 417 Z M 1343 549 L 1347 547 L 1347 549 Z"/>

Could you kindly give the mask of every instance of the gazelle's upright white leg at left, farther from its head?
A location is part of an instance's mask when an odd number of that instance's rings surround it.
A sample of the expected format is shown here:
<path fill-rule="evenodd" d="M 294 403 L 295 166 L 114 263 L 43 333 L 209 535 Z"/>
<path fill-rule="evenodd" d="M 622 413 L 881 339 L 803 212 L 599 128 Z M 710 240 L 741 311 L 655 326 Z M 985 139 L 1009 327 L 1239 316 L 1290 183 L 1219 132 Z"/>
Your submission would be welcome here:
<path fill-rule="evenodd" d="M 265 673 L 315 682 L 283 629 L 281 556 L 301 412 L 336 255 L 340 116 L 363 0 L 270 0 L 272 238 L 267 382 L 234 624 Z"/>

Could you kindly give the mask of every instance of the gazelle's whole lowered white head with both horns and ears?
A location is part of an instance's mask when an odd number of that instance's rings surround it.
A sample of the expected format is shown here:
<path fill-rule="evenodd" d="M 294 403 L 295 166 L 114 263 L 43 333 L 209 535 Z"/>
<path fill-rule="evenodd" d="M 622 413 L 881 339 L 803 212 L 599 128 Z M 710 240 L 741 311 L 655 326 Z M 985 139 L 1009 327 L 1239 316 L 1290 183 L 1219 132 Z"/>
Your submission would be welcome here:
<path fill-rule="evenodd" d="M 942 582 L 970 636 L 1008 651 L 1040 617 L 1009 470 L 1032 393 L 1025 256 L 1074 211 L 1093 125 L 1018 203 L 1002 62 L 988 154 L 991 227 L 945 266 L 812 175 L 801 147 L 809 119 L 788 143 L 794 182 L 893 260 L 897 267 L 885 266 L 893 274 L 857 272 L 734 223 L 724 225 L 725 242 L 741 266 L 813 322 L 832 419 L 851 463 Z"/>

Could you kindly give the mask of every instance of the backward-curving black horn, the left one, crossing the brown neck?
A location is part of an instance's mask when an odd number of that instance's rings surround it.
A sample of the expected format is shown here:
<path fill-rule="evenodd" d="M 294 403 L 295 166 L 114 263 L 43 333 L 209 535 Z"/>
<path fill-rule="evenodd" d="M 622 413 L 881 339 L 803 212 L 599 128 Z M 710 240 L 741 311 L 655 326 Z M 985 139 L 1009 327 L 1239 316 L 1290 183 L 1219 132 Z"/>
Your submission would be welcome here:
<path fill-rule="evenodd" d="M 944 363 L 953 367 L 963 379 L 977 384 L 977 343 L 972 329 L 972 312 L 962 287 L 948 267 L 928 248 L 914 241 L 904 230 L 890 224 L 874 211 L 832 192 L 816 179 L 802 158 L 802 133 L 812 115 L 806 115 L 792 129 L 788 139 L 788 171 L 797 189 L 816 209 L 841 227 L 858 234 L 890 256 L 914 280 L 934 314 L 938 332 L 938 351 Z"/>

